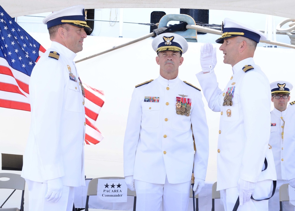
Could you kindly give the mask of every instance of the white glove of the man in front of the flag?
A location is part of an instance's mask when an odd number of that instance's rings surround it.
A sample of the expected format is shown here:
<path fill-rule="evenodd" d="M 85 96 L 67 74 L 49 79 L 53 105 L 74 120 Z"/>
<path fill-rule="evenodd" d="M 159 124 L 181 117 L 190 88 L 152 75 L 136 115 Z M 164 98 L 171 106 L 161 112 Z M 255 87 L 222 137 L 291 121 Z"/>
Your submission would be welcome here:
<path fill-rule="evenodd" d="M 63 182 L 61 178 L 47 180 L 47 193 L 45 199 L 48 202 L 57 202 L 63 194 Z"/>

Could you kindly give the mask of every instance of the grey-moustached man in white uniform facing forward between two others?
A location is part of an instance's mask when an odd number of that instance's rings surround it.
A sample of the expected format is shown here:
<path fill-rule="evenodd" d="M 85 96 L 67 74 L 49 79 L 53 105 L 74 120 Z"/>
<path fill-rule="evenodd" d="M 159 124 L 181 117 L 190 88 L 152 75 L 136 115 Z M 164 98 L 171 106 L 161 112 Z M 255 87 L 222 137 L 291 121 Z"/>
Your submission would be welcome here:
<path fill-rule="evenodd" d="M 188 44 L 174 33 L 152 42 L 160 75 L 135 86 L 124 137 L 124 176 L 136 189 L 137 211 L 186 211 L 194 165 L 194 191 L 206 177 L 209 143 L 202 95 L 178 78 Z M 194 153 L 194 133 L 196 152 Z"/>

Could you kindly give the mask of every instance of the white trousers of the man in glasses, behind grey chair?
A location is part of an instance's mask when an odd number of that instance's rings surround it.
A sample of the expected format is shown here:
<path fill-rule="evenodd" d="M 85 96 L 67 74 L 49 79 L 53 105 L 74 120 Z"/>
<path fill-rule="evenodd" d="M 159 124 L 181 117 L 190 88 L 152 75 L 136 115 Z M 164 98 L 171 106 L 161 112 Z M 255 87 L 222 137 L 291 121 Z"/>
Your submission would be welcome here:
<path fill-rule="evenodd" d="M 277 180 L 277 186 L 276 186 L 276 192 L 273 195 L 273 197 L 271 197 L 268 200 L 268 207 L 269 210 L 280 210 L 280 197 L 279 197 L 279 189 L 281 187 L 282 184 L 286 184 L 289 183 L 286 180 Z M 295 207 L 292 204 L 289 204 L 289 202 L 283 202 L 283 211 L 294 211 Z"/>

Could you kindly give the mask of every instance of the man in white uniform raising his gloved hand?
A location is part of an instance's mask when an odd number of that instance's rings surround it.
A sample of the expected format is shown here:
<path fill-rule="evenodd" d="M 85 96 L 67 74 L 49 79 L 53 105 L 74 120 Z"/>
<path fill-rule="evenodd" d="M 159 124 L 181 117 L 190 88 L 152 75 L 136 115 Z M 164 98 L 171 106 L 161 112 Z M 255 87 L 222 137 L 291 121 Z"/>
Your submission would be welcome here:
<path fill-rule="evenodd" d="M 226 211 L 232 211 L 239 196 L 239 211 L 266 211 L 272 180 L 276 180 L 270 136 L 270 86 L 253 56 L 263 33 L 247 25 L 224 19 L 219 50 L 233 74 L 225 89 L 218 87 L 214 73 L 216 50 L 201 48 L 202 72 L 196 74 L 212 111 L 220 112 L 217 150 L 217 190 Z M 251 96 L 255 96 L 252 98 Z M 265 169 L 264 161 L 268 165 Z M 265 169 L 265 170 L 264 170 Z M 262 171 L 264 170 L 264 171 Z"/>

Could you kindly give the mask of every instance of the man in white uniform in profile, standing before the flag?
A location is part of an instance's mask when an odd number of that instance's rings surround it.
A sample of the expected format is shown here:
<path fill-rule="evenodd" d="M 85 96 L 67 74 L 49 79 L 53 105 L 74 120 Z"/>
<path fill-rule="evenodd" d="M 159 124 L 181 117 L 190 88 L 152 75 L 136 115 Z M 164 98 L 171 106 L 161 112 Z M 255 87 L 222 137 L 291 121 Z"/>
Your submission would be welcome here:
<path fill-rule="evenodd" d="M 85 186 L 85 93 L 73 59 L 91 28 L 83 5 L 53 12 L 43 23 L 52 45 L 30 79 L 32 118 L 22 177 L 30 211 L 69 211 L 74 187 Z"/>

